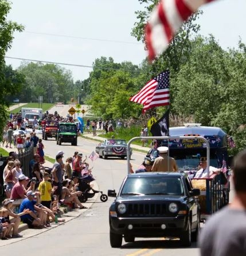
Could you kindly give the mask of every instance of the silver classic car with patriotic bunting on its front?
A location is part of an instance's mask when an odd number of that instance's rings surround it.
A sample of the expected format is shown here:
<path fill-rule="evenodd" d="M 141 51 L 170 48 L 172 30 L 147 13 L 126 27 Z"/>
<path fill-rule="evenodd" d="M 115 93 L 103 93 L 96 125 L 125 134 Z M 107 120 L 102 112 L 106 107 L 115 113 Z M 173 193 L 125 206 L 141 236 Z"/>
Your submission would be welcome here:
<path fill-rule="evenodd" d="M 96 146 L 96 153 L 100 158 L 107 159 L 109 156 L 117 156 L 124 159 L 127 156 L 127 142 L 126 140 L 104 140 Z M 130 149 L 130 155 L 132 149 Z"/>

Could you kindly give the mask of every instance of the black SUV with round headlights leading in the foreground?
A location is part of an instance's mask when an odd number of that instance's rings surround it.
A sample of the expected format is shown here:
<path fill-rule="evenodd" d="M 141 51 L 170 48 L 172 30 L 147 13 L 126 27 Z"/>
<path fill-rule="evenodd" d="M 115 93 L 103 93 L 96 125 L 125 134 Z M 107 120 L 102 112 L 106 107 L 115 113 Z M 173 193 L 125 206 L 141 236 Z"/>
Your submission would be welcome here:
<path fill-rule="evenodd" d="M 134 242 L 135 237 L 179 237 L 190 246 L 200 231 L 200 189 L 193 189 L 184 173 L 129 174 L 108 196 L 115 196 L 110 206 L 111 247 Z"/>

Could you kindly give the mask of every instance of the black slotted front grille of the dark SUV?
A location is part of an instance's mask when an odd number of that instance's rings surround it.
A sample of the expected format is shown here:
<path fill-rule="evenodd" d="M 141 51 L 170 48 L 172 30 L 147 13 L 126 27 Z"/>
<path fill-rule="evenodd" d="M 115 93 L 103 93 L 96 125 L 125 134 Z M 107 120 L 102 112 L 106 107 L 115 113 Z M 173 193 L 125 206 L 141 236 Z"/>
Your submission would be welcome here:
<path fill-rule="evenodd" d="M 127 215 L 129 217 L 157 217 L 163 216 L 166 213 L 166 204 L 162 203 L 138 203 L 127 205 Z"/>

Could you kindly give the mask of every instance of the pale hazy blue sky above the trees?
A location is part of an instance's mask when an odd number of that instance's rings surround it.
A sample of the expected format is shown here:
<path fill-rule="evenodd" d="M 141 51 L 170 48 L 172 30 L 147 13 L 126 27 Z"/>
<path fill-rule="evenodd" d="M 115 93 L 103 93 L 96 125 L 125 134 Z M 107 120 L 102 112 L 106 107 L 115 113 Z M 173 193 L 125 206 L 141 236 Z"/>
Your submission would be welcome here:
<path fill-rule="evenodd" d="M 91 67 L 96 58 L 140 64 L 144 45 L 131 36 L 138 0 L 11 0 L 8 19 L 25 26 L 14 33 L 6 56 Z M 237 48 L 239 37 L 246 44 L 246 1 L 219 0 L 202 7 L 198 20 L 203 36 L 212 34 L 222 48 Z M 50 34 L 50 35 L 45 35 Z M 18 68 L 22 60 L 6 58 Z M 92 68 L 64 66 L 74 81 L 89 77 Z"/>

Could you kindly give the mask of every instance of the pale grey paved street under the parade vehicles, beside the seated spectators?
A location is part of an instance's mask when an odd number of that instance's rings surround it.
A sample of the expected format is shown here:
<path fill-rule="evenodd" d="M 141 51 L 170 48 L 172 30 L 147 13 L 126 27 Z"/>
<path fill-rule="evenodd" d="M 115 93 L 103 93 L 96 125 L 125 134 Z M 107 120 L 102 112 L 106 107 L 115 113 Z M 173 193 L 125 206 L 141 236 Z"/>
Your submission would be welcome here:
<path fill-rule="evenodd" d="M 83 152 L 89 155 L 95 150 L 97 142 L 79 138 L 78 146 L 71 146 L 64 143 L 58 146 L 54 140 L 44 141 L 45 153 L 53 156 L 58 150 L 65 152 L 65 158 L 71 156 L 74 151 Z M 138 166 L 143 159 L 143 153 L 134 152 L 131 162 Z M 125 177 L 126 160 L 112 158 L 108 160 L 97 159 L 89 165 L 93 165 L 93 175 L 96 178 L 99 190 L 107 193 L 108 189 L 115 189 Z M 107 202 L 101 202 L 97 198 L 90 209 L 84 211 L 81 216 L 60 225 L 48 232 L 38 234 L 32 238 L 22 240 L 1 247 L 2 255 L 13 255 L 25 249 L 25 256 L 33 254 L 45 254 L 46 256 L 67 256 L 67 255 L 184 255 L 198 256 L 196 243 L 190 248 L 182 248 L 175 240 L 163 239 L 136 239 L 135 243 L 125 243 L 120 249 L 112 249 L 109 240 L 108 208 L 114 198 Z M 18 241 L 18 239 L 16 239 Z M 1 244 L 1 241 L 0 241 Z"/>

